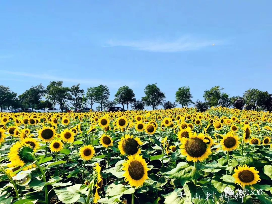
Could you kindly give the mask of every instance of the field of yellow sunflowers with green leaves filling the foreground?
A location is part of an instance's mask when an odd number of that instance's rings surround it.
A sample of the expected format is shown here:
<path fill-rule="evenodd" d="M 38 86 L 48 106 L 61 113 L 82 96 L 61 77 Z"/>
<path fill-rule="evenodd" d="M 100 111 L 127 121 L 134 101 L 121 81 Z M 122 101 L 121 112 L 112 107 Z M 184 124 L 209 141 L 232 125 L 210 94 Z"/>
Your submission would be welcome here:
<path fill-rule="evenodd" d="M 272 203 L 269 112 L 0 116 L 0 204 Z"/>

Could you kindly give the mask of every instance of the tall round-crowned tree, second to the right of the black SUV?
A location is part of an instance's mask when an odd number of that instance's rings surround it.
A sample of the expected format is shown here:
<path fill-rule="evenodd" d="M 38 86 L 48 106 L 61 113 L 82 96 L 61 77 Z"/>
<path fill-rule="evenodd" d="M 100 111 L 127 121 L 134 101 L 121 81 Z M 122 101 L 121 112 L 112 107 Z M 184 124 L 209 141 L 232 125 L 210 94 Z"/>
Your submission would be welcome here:
<path fill-rule="evenodd" d="M 165 99 L 165 94 L 157 87 L 156 84 L 148 84 L 144 89 L 146 96 L 142 97 L 142 101 L 145 102 L 147 106 L 151 106 L 153 110 L 157 108 L 158 105 L 162 105 Z"/>

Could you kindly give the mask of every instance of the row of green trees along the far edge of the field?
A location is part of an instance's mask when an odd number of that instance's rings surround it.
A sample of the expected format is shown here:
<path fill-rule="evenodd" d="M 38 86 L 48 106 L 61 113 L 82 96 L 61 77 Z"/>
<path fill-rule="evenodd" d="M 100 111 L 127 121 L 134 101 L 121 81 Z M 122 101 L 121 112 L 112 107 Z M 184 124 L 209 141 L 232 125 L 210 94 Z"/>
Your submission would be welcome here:
<path fill-rule="evenodd" d="M 143 110 L 145 106 L 150 106 L 153 110 L 159 105 L 164 109 L 175 108 L 177 104 L 182 107 L 194 105 L 199 111 L 205 111 L 212 106 L 234 107 L 237 109 L 272 109 L 272 94 L 267 91 L 263 92 L 258 89 L 245 91 L 243 96 L 233 96 L 223 92 L 224 88 L 220 86 L 212 87 L 210 90 L 205 90 L 203 94 L 204 101 L 192 101 L 190 87 L 183 86 L 178 88 L 176 92 L 175 102 L 165 101 L 165 93 L 163 93 L 157 84 L 148 84 L 144 93 L 145 96 L 136 100 L 134 91 L 128 86 L 122 86 L 115 93 L 115 99 L 109 100 L 109 88 L 100 84 L 97 87 L 89 87 L 86 94 L 83 89 L 80 89 L 80 84 L 72 87 L 63 86 L 62 81 L 51 81 L 45 88 L 42 84 L 33 86 L 26 90 L 21 95 L 14 93 L 9 87 L 0 85 L 0 107 L 1 112 L 3 107 L 17 109 L 30 107 L 32 109 L 50 108 L 59 105 L 61 110 L 68 108 L 71 105 L 77 109 L 86 107 L 87 104 L 93 109 L 94 103 L 100 104 L 96 107 L 97 110 L 107 109 L 109 107 L 121 104 L 123 108 L 128 109 L 129 105 L 134 110 Z M 42 100 L 45 97 L 46 100 Z"/>

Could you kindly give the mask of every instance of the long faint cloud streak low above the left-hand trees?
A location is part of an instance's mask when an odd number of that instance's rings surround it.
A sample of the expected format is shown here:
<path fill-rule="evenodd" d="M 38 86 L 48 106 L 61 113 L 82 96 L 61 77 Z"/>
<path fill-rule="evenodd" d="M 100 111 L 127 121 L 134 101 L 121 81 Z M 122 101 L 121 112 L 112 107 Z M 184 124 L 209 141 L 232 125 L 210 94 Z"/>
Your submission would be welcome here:
<path fill-rule="evenodd" d="M 31 73 L 24 73 L 24 72 L 14 72 L 14 71 L 6 71 L 6 70 L 0 70 L 0 72 L 5 74 L 11 74 L 21 77 L 27 77 L 27 78 L 36 78 L 36 79 L 44 79 L 44 80 L 51 80 L 51 81 L 63 81 L 68 83 L 80 83 L 80 84 L 86 84 L 88 86 L 98 86 L 99 84 L 105 84 L 111 88 L 119 88 L 120 86 L 131 86 L 135 87 L 137 86 L 137 82 L 135 81 L 109 81 L 109 80 L 100 80 L 100 79 L 79 79 L 79 78 L 64 78 L 59 76 L 58 74 L 54 75 L 48 75 L 48 74 L 31 74 Z M 11 78 L 11 80 L 14 80 Z"/>

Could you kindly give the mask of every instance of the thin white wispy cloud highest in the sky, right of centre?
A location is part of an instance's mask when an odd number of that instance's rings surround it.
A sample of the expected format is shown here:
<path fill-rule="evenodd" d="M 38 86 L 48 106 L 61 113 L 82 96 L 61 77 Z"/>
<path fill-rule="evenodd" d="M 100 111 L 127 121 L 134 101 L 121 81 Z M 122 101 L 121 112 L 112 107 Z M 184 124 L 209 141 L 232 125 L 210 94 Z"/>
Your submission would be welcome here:
<path fill-rule="evenodd" d="M 144 41 L 115 41 L 109 40 L 106 43 L 108 47 L 123 46 L 130 47 L 136 50 L 143 50 L 149 52 L 182 52 L 199 50 L 205 47 L 215 45 L 222 45 L 224 41 L 221 40 L 205 40 L 194 38 L 192 36 L 183 36 L 174 41 L 163 40 L 144 40 Z"/>

